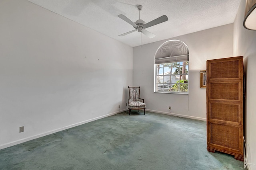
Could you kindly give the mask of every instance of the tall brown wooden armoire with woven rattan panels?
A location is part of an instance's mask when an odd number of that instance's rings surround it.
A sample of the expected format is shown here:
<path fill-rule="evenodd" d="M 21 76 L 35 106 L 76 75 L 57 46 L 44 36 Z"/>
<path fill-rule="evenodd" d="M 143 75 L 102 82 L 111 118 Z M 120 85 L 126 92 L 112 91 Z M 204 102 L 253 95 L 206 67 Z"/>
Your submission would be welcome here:
<path fill-rule="evenodd" d="M 244 160 L 243 56 L 208 60 L 207 150 Z"/>

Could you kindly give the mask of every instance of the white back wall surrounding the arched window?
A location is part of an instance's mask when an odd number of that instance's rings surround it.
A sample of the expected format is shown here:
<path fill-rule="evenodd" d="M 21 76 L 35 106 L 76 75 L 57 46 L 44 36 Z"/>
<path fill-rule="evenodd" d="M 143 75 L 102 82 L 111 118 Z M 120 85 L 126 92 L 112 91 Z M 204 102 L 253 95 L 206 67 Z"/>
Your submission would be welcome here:
<path fill-rule="evenodd" d="M 168 114 L 171 106 L 174 114 L 206 120 L 206 88 L 200 88 L 199 71 L 206 70 L 209 59 L 233 57 L 233 24 L 171 39 L 183 41 L 189 49 L 189 94 L 154 93 L 154 55 L 170 39 L 133 48 L 133 84 L 141 86 L 147 110 Z"/>

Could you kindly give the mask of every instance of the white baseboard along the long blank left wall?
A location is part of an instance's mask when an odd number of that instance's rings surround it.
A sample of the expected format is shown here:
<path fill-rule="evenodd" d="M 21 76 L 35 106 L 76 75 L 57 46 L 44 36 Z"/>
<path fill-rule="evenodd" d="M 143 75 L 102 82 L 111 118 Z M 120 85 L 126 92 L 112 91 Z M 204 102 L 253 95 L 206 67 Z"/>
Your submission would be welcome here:
<path fill-rule="evenodd" d="M 72 125 L 68 125 L 68 126 L 65 126 L 65 127 L 62 127 L 62 128 L 58 128 L 58 129 L 55 129 L 55 130 L 52 130 L 52 131 L 48 131 L 48 132 L 45 132 L 45 133 L 41 133 L 41 134 L 38 134 L 38 135 L 34 135 L 34 136 L 31 136 L 31 137 L 27 137 L 27 138 L 24 138 L 24 139 L 19 139 L 17 141 L 13 141 L 13 142 L 10 142 L 10 143 L 5 143 L 3 145 L 0 145 L 0 149 L 4 149 L 4 148 L 7 148 L 7 147 L 11 147 L 11 146 L 14 146 L 14 145 L 18 145 L 20 143 L 24 143 L 24 142 L 27 142 L 27 141 L 30 141 L 30 140 L 33 140 L 33 139 L 36 139 L 36 138 L 39 138 L 39 137 L 43 137 L 43 136 L 46 136 L 46 135 L 50 135 L 52 133 L 56 133 L 56 132 L 59 132 L 59 131 L 63 131 L 63 130 L 66 130 L 66 129 L 69 129 L 69 128 L 72 128 L 72 127 L 75 127 L 75 126 L 79 126 L 79 125 L 82 125 L 84 123 L 88 123 L 88 122 L 91 122 L 91 121 L 95 121 L 95 120 L 98 120 L 98 119 L 102 119 L 104 117 L 108 117 L 108 116 L 111 116 L 111 115 L 115 115 L 117 113 L 120 113 L 122 111 L 126 111 L 128 109 L 123 109 L 123 110 L 120 110 L 120 111 L 116 111 L 114 113 L 109 113 L 107 115 L 103 115 L 103 116 L 99 116 L 99 117 L 95 117 L 93 119 L 89 119 L 89 120 L 86 120 L 86 121 L 81 121 L 79 123 L 74 123 Z"/>

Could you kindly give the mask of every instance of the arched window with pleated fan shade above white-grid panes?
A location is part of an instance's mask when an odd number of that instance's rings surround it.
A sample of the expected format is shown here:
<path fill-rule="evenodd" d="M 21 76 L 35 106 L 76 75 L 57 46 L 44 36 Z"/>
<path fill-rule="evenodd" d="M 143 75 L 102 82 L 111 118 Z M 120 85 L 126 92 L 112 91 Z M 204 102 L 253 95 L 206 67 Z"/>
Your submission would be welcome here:
<path fill-rule="evenodd" d="M 155 54 L 155 92 L 188 94 L 188 46 L 166 41 Z"/>

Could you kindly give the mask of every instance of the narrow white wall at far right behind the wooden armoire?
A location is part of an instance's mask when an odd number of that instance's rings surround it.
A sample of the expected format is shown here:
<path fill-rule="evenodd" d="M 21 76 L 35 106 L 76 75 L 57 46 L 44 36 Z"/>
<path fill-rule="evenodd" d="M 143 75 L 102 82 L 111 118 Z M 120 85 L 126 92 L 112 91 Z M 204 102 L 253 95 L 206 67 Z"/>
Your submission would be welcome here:
<path fill-rule="evenodd" d="M 256 31 L 251 31 L 243 27 L 245 0 L 242 0 L 236 20 L 234 22 L 234 55 L 244 56 L 244 74 L 246 80 L 246 101 L 245 101 L 245 139 L 250 149 L 248 152 L 248 163 L 256 165 Z M 251 170 L 256 170 L 256 166 L 250 166 Z"/>

